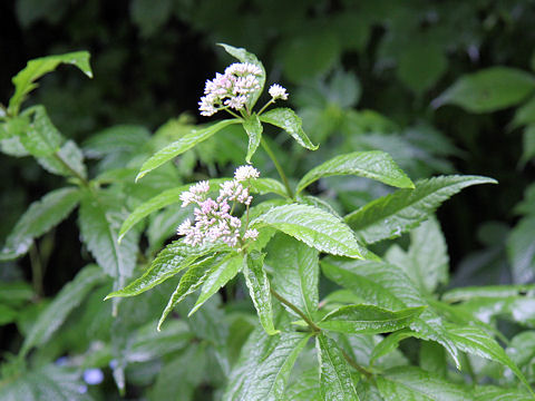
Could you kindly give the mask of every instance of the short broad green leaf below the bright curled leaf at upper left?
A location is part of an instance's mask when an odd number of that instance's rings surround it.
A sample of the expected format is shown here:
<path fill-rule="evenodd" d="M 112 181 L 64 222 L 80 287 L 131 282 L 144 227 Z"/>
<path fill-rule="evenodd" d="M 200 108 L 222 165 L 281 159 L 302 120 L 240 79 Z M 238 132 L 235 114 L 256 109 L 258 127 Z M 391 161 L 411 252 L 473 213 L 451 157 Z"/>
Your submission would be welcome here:
<path fill-rule="evenodd" d="M 36 157 L 50 156 L 58 151 L 64 139 L 50 121 L 45 107 L 33 106 L 23 114 L 32 116 L 28 129 L 20 135 L 20 141 L 26 150 Z"/>

